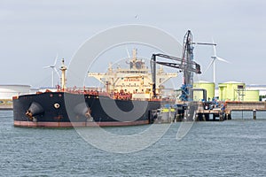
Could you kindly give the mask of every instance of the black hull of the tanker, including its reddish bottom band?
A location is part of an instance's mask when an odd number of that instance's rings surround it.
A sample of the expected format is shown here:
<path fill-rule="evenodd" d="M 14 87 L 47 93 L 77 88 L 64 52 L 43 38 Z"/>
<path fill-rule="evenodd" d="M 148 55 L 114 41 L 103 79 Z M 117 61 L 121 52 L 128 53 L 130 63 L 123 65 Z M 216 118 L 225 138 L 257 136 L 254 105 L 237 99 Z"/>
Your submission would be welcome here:
<path fill-rule="evenodd" d="M 160 101 L 43 92 L 13 97 L 16 127 L 131 126 L 153 123 Z"/>

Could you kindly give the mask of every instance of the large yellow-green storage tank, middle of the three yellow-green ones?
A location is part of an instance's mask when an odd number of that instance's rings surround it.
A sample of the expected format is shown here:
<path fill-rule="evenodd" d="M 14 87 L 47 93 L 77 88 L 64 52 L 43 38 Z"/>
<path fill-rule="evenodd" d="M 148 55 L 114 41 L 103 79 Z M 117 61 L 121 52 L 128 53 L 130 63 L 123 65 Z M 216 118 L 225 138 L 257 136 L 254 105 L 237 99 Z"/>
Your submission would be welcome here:
<path fill-rule="evenodd" d="M 246 84 L 238 81 L 219 83 L 219 100 L 244 101 Z"/>

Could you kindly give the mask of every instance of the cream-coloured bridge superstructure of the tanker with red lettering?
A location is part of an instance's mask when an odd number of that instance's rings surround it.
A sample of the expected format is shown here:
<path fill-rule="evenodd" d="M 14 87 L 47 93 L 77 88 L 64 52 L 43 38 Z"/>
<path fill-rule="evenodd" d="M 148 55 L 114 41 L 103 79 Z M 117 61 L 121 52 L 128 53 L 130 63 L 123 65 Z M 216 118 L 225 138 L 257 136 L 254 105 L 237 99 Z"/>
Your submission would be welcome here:
<path fill-rule="evenodd" d="M 156 73 L 156 89 L 160 94 L 160 89 L 163 89 L 162 84 L 170 78 L 177 76 L 177 73 L 165 73 L 162 66 Z M 137 50 L 133 50 L 133 57 L 130 59 L 129 68 L 118 67 L 113 69 L 112 64 L 109 64 L 106 73 L 88 73 L 89 77 L 94 77 L 98 81 L 106 85 L 108 93 L 125 91 L 129 93 L 145 93 L 152 94 L 153 79 L 152 73 L 149 72 L 145 62 L 137 58 Z"/>

